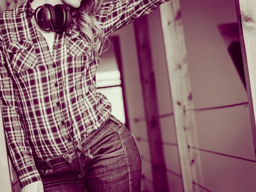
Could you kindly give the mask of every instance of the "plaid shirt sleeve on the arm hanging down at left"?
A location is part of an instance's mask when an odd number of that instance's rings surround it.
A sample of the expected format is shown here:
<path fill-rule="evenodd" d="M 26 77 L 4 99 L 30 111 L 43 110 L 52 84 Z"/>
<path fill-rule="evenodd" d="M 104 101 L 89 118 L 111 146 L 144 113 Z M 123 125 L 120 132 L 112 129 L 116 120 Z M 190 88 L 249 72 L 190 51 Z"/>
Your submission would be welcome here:
<path fill-rule="evenodd" d="M 6 70 L 3 54 L 3 38 L 0 35 L 0 98 L 8 155 L 20 181 L 20 187 L 41 180 L 31 157 L 32 151 L 26 138 L 23 119 L 17 105 L 14 84 Z"/>

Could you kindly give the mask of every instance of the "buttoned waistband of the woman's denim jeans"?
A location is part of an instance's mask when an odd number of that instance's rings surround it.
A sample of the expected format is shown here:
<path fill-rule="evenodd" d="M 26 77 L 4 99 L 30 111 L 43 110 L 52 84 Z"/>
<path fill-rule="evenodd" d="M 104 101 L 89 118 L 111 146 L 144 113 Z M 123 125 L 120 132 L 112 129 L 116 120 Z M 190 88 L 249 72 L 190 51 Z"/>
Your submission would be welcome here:
<path fill-rule="evenodd" d="M 78 145 L 76 145 L 76 148 L 89 148 L 97 138 L 101 137 L 102 135 L 106 134 L 108 132 L 108 129 L 111 128 L 114 123 L 119 125 L 119 128 L 122 127 L 122 122 L 120 122 L 118 119 L 116 119 L 115 116 L 110 115 L 109 119 L 96 131 L 94 131 L 92 134 L 90 134 L 87 138 L 85 138 L 83 141 L 81 141 Z M 81 152 L 77 150 L 78 155 L 80 156 Z M 34 159 L 35 166 L 37 168 L 45 168 L 49 166 L 57 166 L 62 163 L 65 163 L 67 161 L 70 161 L 73 159 L 73 157 L 76 158 L 76 149 L 72 148 L 69 151 L 67 151 L 64 154 L 58 155 L 56 157 L 50 157 L 47 159 Z"/>

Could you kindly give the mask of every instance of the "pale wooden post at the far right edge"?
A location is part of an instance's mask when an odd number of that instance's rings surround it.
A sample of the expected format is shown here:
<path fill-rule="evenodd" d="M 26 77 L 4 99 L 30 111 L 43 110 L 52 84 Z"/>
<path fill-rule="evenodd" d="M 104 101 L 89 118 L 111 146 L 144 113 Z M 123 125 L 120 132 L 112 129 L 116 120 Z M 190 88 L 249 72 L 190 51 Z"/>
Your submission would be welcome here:
<path fill-rule="evenodd" d="M 256 1 L 236 0 L 244 74 L 256 155 Z"/>

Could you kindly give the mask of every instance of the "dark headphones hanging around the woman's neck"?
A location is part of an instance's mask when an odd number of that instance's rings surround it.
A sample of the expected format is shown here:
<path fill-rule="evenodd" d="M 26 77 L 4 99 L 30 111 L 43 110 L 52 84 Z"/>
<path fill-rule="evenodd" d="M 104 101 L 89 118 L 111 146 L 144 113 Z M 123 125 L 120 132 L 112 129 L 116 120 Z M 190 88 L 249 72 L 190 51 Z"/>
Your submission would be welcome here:
<path fill-rule="evenodd" d="M 64 4 L 44 4 L 37 9 L 32 9 L 31 2 L 28 0 L 27 11 L 35 17 L 35 21 L 42 29 L 46 31 L 53 31 L 58 34 L 65 32 L 72 23 L 73 17 L 77 15 L 75 9 L 67 7 Z"/>

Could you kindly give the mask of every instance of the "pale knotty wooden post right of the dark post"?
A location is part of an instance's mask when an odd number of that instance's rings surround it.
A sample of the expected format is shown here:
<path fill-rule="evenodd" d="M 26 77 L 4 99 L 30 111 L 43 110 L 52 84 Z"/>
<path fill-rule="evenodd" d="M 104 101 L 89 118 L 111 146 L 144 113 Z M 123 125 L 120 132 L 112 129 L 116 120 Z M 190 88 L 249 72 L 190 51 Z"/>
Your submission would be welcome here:
<path fill-rule="evenodd" d="M 160 15 L 183 189 L 184 192 L 198 192 L 202 189 L 193 183 L 196 182 L 203 186 L 203 178 L 199 152 L 189 149 L 189 146 L 198 147 L 198 140 L 194 111 L 186 111 L 186 109 L 193 109 L 194 107 L 179 0 L 170 0 L 164 6 L 160 6 Z"/>

